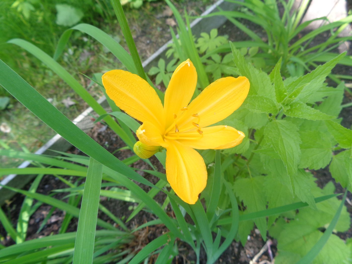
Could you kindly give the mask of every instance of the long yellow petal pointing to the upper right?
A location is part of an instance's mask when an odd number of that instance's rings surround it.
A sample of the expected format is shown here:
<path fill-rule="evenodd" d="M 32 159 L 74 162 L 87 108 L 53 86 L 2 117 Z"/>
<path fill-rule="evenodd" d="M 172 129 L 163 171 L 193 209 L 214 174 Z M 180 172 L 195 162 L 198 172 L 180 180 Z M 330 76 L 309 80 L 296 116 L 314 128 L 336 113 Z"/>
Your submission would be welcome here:
<path fill-rule="evenodd" d="M 177 120 L 180 132 L 194 128 L 192 122 L 201 128 L 219 122 L 239 108 L 249 92 L 246 77 L 220 78 L 209 84 L 188 106 L 187 114 Z"/>

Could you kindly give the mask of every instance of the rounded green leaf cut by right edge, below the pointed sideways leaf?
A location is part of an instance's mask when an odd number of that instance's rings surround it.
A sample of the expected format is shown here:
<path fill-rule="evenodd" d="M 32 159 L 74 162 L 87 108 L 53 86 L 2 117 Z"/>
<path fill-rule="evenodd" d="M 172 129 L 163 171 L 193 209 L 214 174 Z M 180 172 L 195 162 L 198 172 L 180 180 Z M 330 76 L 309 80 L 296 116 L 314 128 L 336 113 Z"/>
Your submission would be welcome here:
<path fill-rule="evenodd" d="M 329 166 L 331 176 L 346 188 L 348 183 L 352 183 L 352 158 L 350 151 L 345 150 L 334 155 Z"/>

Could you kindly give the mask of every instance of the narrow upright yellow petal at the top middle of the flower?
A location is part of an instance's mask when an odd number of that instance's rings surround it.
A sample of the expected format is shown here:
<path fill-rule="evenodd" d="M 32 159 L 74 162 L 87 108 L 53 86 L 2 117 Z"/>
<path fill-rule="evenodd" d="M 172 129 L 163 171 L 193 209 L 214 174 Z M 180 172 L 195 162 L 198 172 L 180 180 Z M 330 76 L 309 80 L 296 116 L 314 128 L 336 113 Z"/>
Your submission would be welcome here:
<path fill-rule="evenodd" d="M 193 63 L 187 59 L 182 62 L 172 74 L 169 86 L 165 92 L 164 109 L 166 116 L 166 127 L 170 126 L 174 114 L 180 116 L 191 100 L 197 85 L 197 72 Z"/>

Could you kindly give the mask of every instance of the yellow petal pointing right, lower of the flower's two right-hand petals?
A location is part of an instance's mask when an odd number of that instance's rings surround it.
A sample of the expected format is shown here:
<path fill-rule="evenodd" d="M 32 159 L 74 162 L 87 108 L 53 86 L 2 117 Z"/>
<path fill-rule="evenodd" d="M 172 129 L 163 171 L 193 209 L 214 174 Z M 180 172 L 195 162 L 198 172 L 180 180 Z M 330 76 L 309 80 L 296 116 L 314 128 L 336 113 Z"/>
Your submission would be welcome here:
<path fill-rule="evenodd" d="M 178 142 L 193 149 L 229 149 L 240 144 L 245 134 L 231 126 L 210 126 L 197 131 L 179 133 Z M 188 139 L 182 139 L 182 137 Z"/>

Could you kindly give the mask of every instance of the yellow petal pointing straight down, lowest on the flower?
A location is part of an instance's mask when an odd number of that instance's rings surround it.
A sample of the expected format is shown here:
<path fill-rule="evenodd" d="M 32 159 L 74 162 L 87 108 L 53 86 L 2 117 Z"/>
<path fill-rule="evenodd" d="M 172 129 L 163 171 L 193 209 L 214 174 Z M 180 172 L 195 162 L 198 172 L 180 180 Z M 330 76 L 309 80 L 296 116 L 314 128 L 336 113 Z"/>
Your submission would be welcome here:
<path fill-rule="evenodd" d="M 166 148 L 166 177 L 175 193 L 193 205 L 207 184 L 207 169 L 196 150 L 170 140 Z"/>

